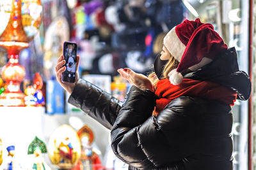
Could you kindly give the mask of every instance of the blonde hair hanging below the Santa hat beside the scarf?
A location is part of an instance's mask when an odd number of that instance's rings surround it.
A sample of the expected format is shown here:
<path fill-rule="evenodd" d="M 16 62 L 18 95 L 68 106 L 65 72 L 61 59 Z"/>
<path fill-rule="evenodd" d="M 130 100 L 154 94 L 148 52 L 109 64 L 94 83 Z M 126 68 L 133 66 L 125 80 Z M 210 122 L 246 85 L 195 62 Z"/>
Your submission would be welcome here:
<path fill-rule="evenodd" d="M 173 55 L 170 56 L 170 60 L 165 64 L 164 70 L 163 70 L 163 76 L 161 77 L 162 79 L 164 78 L 169 78 L 168 73 L 172 71 L 173 69 L 177 68 L 179 65 L 179 61 L 176 60 Z M 156 89 L 156 85 L 159 81 L 159 79 L 156 76 L 155 72 L 152 72 L 148 74 L 148 79 L 151 81 L 152 85 L 154 86 L 154 89 Z"/>

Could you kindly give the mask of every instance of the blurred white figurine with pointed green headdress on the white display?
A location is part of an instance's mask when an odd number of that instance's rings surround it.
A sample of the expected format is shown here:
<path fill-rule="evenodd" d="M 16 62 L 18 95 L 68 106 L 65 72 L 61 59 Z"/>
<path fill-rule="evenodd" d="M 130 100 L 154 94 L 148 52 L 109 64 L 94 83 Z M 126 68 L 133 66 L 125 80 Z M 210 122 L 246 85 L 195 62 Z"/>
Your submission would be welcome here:
<path fill-rule="evenodd" d="M 51 168 L 45 163 L 44 158 L 42 157 L 42 153 L 47 153 L 46 145 L 43 141 L 41 141 L 37 136 L 33 141 L 29 144 L 28 147 L 28 155 L 33 155 L 33 165 L 30 169 L 42 169 L 42 170 L 50 170 Z"/>

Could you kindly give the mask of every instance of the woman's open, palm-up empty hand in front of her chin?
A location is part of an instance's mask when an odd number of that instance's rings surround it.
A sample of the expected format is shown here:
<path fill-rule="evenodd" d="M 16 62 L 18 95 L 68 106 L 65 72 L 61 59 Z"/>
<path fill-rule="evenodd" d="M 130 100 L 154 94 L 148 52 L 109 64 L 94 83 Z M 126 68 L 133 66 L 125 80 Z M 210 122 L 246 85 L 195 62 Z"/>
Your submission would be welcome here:
<path fill-rule="evenodd" d="M 148 89 L 154 92 L 154 87 L 151 81 L 147 78 L 147 76 L 135 73 L 129 68 L 118 69 L 117 71 L 123 78 L 128 80 L 132 85 L 135 85 L 140 89 Z"/>

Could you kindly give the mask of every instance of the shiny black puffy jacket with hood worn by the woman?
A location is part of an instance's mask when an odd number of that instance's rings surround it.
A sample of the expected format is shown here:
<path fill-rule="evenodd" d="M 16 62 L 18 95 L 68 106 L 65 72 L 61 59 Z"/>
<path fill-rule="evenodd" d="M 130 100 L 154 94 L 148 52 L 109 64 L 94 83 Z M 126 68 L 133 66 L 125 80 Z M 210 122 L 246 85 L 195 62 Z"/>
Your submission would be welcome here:
<path fill-rule="evenodd" d="M 234 48 L 184 77 L 230 87 L 238 99 L 250 97 L 250 79 L 239 71 Z M 79 80 L 68 102 L 111 129 L 112 149 L 129 169 L 233 169 L 232 112 L 220 101 L 177 97 L 154 117 L 156 96 L 149 90 L 132 86 L 122 104 L 92 83 Z"/>

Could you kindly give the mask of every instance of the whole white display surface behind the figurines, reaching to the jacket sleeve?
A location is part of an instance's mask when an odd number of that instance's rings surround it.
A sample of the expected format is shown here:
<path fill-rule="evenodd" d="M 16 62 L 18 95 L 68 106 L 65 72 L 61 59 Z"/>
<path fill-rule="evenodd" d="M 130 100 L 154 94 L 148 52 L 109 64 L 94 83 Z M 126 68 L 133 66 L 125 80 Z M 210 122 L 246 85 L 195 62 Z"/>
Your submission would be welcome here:
<path fill-rule="evenodd" d="M 110 131 L 106 127 L 82 111 L 47 115 L 44 107 L 0 107 L 0 138 L 3 141 L 4 158 L 8 154 L 5 148 L 15 145 L 15 157 L 23 167 L 28 167 L 28 146 L 35 136 L 48 145 L 51 134 L 63 124 L 71 125 L 76 131 L 83 125 L 88 125 L 95 135 L 93 147 L 100 151 L 99 157 L 104 164 L 110 138 Z M 45 154 L 44 157 L 45 162 L 56 169 L 49 156 Z"/>

